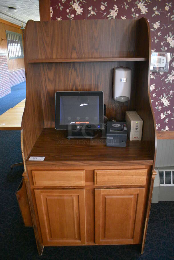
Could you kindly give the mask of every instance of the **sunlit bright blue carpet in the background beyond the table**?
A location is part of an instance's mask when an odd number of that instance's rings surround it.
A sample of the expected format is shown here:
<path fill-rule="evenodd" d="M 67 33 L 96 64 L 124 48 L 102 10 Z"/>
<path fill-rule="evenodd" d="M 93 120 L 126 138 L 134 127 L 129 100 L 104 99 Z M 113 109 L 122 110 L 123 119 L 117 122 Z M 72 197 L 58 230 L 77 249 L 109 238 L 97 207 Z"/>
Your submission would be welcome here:
<path fill-rule="evenodd" d="M 26 81 L 11 87 L 11 93 L 0 99 L 0 115 L 26 97 Z"/>

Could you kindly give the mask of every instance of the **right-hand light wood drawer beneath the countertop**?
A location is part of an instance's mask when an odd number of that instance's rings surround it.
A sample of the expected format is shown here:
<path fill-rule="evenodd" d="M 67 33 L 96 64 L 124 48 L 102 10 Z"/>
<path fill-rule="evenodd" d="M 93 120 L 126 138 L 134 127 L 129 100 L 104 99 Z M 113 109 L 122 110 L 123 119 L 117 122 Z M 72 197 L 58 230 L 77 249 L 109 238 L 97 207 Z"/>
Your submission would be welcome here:
<path fill-rule="evenodd" d="M 95 170 L 96 186 L 145 185 L 147 169 Z"/>

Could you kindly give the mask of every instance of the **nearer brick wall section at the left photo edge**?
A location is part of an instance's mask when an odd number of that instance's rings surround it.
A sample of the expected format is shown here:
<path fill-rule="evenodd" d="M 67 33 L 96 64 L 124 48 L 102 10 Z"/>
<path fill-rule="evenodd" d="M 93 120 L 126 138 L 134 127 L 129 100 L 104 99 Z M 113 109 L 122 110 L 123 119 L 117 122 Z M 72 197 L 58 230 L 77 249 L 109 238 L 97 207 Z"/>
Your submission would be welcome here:
<path fill-rule="evenodd" d="M 11 93 L 7 55 L 0 55 L 0 98 Z"/>

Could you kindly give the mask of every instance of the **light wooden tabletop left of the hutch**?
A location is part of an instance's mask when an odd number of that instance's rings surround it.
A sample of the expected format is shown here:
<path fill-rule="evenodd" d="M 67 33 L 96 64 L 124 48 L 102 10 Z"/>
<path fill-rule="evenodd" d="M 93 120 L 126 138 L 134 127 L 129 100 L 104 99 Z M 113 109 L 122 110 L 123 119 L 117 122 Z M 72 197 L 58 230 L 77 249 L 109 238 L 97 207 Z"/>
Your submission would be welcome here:
<path fill-rule="evenodd" d="M 25 99 L 0 116 L 0 130 L 21 130 Z"/>

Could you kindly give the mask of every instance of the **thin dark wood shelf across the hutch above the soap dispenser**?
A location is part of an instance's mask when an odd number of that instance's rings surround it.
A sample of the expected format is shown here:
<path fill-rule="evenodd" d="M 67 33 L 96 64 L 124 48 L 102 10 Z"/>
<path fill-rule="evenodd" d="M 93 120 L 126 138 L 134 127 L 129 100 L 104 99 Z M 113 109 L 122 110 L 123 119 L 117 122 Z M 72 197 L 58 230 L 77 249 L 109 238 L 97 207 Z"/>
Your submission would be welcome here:
<path fill-rule="evenodd" d="M 116 62 L 116 61 L 145 61 L 144 57 L 105 57 L 105 58 L 69 58 L 69 59 L 33 59 L 29 63 L 46 63 L 46 62 Z"/>

